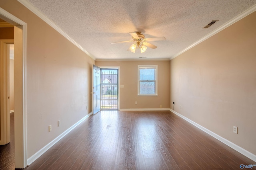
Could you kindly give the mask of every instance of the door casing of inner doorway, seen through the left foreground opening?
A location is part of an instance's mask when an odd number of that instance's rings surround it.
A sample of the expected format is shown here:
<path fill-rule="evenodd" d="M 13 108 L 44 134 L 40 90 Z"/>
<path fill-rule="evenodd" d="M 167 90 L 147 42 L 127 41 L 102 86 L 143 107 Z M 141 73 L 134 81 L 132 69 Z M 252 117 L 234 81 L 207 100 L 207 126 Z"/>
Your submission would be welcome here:
<path fill-rule="evenodd" d="M 1 117 L 1 140 L 0 145 L 10 143 L 10 50 L 8 44 L 14 44 L 14 39 L 0 39 L 0 117 Z M 9 53 L 9 54 L 8 54 Z"/>

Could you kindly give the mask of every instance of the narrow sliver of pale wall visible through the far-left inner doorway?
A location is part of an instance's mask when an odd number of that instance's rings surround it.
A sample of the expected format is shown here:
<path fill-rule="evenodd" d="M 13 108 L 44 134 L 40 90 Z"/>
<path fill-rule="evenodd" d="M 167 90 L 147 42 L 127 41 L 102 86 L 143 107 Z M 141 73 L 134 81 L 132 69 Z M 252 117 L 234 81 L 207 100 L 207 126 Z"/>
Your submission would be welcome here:
<path fill-rule="evenodd" d="M 10 111 L 14 110 L 14 60 L 10 59 Z"/>

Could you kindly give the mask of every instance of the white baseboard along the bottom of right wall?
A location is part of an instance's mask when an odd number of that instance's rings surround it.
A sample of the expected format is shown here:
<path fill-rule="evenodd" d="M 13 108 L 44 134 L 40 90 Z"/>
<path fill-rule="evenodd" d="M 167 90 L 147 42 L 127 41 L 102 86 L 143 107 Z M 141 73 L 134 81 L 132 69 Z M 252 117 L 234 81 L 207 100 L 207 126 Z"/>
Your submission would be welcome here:
<path fill-rule="evenodd" d="M 176 111 L 170 109 L 170 111 L 176 115 L 178 115 L 179 117 L 181 117 L 182 119 L 188 121 L 189 123 L 191 123 L 192 125 L 198 127 L 199 129 L 201 129 L 202 131 L 208 133 L 209 135 L 211 135 L 212 137 L 218 139 L 219 141 L 221 141 L 222 143 L 228 145 L 229 147 L 231 147 L 232 149 L 240 152 L 241 154 L 243 154 L 244 156 L 250 158 L 251 160 L 253 160 L 254 162 L 256 162 L 256 155 L 252 154 L 251 152 L 249 152 L 248 150 L 243 149 L 242 147 L 239 147 L 238 145 L 228 141 L 227 139 L 217 135 L 216 133 L 206 129 L 205 127 L 202 127 L 201 125 L 197 124 L 196 122 L 188 119 L 187 117 L 181 115 L 180 113 L 177 113 Z"/>

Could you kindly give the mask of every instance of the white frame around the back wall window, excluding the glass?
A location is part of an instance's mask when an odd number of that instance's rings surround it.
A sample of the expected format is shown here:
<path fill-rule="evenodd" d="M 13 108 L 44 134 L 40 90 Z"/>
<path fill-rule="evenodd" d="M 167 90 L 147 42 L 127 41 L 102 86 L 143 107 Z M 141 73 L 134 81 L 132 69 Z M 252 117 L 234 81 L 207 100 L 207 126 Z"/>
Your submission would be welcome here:
<path fill-rule="evenodd" d="M 150 69 L 155 69 L 155 94 L 140 94 L 140 69 L 147 69 L 147 68 L 150 68 Z M 157 74 L 158 74 L 158 69 L 157 69 L 157 65 L 138 65 L 138 96 L 158 96 L 158 93 L 157 93 L 157 84 L 158 84 L 158 80 L 157 80 Z"/>

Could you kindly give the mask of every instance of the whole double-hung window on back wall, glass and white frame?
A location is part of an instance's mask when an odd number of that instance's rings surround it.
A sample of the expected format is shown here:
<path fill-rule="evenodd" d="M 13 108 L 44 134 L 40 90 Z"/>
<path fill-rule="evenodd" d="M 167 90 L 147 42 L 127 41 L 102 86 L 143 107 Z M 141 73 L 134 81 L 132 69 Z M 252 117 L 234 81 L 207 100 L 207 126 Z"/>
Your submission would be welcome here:
<path fill-rule="evenodd" d="M 138 65 L 138 96 L 157 96 L 157 65 Z"/>

